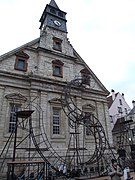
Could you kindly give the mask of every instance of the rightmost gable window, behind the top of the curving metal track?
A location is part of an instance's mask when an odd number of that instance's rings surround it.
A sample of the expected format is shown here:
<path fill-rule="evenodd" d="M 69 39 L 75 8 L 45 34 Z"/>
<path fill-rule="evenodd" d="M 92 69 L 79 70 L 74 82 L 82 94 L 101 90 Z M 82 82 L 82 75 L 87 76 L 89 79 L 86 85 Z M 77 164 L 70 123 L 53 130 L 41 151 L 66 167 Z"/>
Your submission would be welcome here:
<path fill-rule="evenodd" d="M 80 72 L 82 76 L 82 84 L 90 85 L 90 72 L 88 69 L 82 69 Z"/>

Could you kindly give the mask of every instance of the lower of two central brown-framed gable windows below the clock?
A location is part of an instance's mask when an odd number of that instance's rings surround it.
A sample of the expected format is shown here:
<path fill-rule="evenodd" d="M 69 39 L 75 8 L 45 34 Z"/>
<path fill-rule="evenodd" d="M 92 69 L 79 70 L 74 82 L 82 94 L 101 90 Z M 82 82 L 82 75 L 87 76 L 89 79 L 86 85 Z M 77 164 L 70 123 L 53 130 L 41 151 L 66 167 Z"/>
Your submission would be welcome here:
<path fill-rule="evenodd" d="M 52 61 L 53 65 L 53 76 L 63 77 L 63 62 L 60 60 Z"/>

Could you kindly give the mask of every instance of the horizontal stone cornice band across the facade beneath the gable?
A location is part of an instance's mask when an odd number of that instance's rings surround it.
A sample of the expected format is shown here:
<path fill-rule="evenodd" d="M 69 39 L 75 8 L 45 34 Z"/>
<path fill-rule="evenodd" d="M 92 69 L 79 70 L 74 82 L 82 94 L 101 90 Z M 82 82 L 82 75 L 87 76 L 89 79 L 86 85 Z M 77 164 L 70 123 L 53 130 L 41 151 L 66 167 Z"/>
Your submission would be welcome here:
<path fill-rule="evenodd" d="M 6 72 L 6 71 L 0 71 L 0 79 L 2 78 L 2 84 L 4 86 L 5 84 L 8 86 L 9 79 L 10 82 L 9 86 L 15 85 L 15 86 L 21 86 L 24 89 L 32 88 L 35 90 L 41 89 L 42 91 L 52 91 L 52 92 L 59 92 L 62 93 L 64 86 L 66 86 L 67 82 L 66 81 L 59 81 L 56 79 L 50 79 L 50 78 L 43 78 L 41 76 L 37 75 L 20 75 L 20 74 L 15 74 L 12 72 Z M 6 81 L 7 78 L 7 81 Z M 21 84 L 21 81 L 24 83 Z M 19 83 L 19 84 L 17 84 Z M 25 85 L 28 85 L 28 87 L 25 87 Z M 24 86 L 24 87 L 23 87 Z M 54 88 L 55 87 L 55 88 Z M 107 96 L 107 93 L 104 91 L 99 91 L 95 89 L 90 89 L 90 88 L 80 88 L 80 87 L 75 87 L 73 86 L 72 95 L 76 95 L 78 97 L 84 97 L 86 94 L 94 95 L 94 96 Z"/>

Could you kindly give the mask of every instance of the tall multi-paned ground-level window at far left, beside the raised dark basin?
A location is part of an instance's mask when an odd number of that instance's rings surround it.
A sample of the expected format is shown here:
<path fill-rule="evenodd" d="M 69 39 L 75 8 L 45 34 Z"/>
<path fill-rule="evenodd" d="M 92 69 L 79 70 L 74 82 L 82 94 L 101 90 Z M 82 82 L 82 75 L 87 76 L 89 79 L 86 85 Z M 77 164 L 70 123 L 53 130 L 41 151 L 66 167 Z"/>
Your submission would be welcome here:
<path fill-rule="evenodd" d="M 9 133 L 13 133 L 16 126 L 16 112 L 21 110 L 21 105 L 10 104 Z"/>

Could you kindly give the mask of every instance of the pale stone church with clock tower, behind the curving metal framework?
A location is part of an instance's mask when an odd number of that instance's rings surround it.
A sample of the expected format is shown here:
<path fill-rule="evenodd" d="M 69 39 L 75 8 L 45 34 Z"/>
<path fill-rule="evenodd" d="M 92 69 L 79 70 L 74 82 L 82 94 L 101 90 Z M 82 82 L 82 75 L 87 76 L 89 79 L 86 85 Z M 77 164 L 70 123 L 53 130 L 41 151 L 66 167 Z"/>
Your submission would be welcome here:
<path fill-rule="evenodd" d="M 93 135 L 81 121 L 77 128 L 79 133 L 75 135 L 74 118 L 77 113 L 78 119 L 82 117 L 81 112 L 94 115 L 112 143 L 106 101 L 109 92 L 70 44 L 66 13 L 51 0 L 40 22 L 39 38 L 0 57 L 0 151 L 1 159 L 5 158 L 6 162 L 13 159 L 14 147 L 15 158 L 23 160 L 33 151 L 38 151 L 41 156 L 44 151 L 45 156 L 53 159 L 55 155 L 57 159 L 82 146 L 83 153 L 84 149 L 88 150 L 86 155 L 92 153 L 95 149 Z M 83 82 L 85 77 L 88 78 Z M 67 87 L 66 93 L 64 87 Z M 63 99 L 70 101 L 63 105 Z M 31 121 L 24 120 L 26 117 L 18 115 L 22 120 L 18 120 L 18 144 L 14 146 L 16 112 L 26 110 L 34 111 L 32 125 Z M 70 113 L 67 115 L 63 110 Z M 26 140 L 27 137 L 32 137 L 33 141 Z M 75 142 L 76 137 L 79 142 Z"/>

